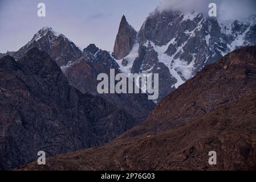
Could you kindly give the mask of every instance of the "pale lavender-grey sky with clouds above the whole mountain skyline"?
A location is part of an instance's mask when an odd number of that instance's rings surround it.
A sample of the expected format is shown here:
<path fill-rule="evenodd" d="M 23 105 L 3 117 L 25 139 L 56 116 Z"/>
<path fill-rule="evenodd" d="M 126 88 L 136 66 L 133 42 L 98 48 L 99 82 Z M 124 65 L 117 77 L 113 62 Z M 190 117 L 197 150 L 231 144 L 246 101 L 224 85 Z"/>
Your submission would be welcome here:
<path fill-rule="evenodd" d="M 111 51 L 121 16 L 139 30 L 157 5 L 164 9 L 208 11 L 208 0 L 0 0 L 0 52 L 17 51 L 40 28 L 49 26 L 84 48 L 95 43 Z M 37 5 L 46 4 L 46 17 Z M 222 19 L 241 18 L 255 12 L 255 0 L 213 0 Z"/>

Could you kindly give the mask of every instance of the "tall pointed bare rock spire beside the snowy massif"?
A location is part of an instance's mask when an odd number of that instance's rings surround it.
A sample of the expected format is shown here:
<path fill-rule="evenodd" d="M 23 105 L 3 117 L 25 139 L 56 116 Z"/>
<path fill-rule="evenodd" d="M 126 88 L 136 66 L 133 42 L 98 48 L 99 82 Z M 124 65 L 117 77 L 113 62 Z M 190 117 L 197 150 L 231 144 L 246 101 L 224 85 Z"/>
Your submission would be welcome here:
<path fill-rule="evenodd" d="M 136 36 L 136 30 L 134 30 L 134 28 L 129 25 L 125 16 L 123 16 L 121 18 L 113 51 L 116 59 L 123 59 L 128 55 L 136 42 Z"/>

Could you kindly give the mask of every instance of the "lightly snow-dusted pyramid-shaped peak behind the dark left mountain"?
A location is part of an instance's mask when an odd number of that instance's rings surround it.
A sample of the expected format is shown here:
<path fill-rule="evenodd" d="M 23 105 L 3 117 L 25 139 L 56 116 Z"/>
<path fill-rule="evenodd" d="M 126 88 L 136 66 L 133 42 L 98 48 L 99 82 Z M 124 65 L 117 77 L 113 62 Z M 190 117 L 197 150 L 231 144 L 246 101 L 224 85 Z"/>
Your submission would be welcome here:
<path fill-rule="evenodd" d="M 67 65 L 68 61 L 79 59 L 82 53 L 66 36 L 55 32 L 50 27 L 44 27 L 34 35 L 29 43 L 12 56 L 19 60 L 26 51 L 34 47 L 47 52 L 60 67 Z"/>

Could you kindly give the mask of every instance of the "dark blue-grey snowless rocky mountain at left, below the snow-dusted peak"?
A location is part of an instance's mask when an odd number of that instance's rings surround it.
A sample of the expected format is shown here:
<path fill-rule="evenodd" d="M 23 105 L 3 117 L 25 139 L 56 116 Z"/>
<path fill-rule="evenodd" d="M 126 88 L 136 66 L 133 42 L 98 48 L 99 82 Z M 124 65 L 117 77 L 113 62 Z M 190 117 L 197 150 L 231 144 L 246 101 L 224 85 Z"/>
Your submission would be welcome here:
<path fill-rule="evenodd" d="M 68 83 L 45 52 L 0 60 L 0 169 L 38 158 L 99 146 L 134 125 L 133 117 Z"/>

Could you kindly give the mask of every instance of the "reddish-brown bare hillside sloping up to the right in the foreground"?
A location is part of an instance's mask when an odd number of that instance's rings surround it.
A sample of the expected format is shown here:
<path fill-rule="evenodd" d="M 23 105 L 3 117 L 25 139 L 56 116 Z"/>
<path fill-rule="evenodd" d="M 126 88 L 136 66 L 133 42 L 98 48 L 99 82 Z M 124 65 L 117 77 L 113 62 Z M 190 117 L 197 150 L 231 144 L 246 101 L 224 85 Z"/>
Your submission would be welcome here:
<path fill-rule="evenodd" d="M 19 169 L 255 170 L 255 90 L 256 47 L 238 49 L 206 66 L 113 142 Z M 209 165 L 209 151 L 216 151 L 217 165 Z"/>

